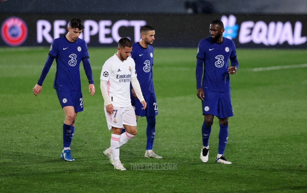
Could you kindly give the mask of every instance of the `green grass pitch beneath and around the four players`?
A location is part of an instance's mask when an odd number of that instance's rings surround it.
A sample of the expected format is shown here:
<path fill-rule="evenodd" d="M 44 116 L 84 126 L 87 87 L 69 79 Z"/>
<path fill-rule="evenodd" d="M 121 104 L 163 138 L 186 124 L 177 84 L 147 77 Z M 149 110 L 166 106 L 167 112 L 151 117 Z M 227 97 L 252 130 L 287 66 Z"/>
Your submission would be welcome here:
<path fill-rule="evenodd" d="M 235 116 L 229 118 L 225 150 L 232 164 L 222 165 L 215 163 L 216 117 L 209 161 L 199 158 L 203 115 L 196 96 L 196 49 L 156 48 L 159 115 L 153 150 L 163 159 L 144 158 L 146 118 L 140 117 L 137 136 L 120 151 L 126 171 L 113 169 L 103 156 L 111 132 L 99 79 L 116 50 L 89 48 L 93 97 L 80 65 L 84 111 L 71 146 L 76 161 L 67 162 L 60 160 L 64 112 L 52 88 L 55 62 L 41 95 L 32 92 L 49 48 L 0 48 L 0 192 L 307 192 L 307 50 L 237 49 L 239 71 L 231 75 Z M 133 169 L 132 163 L 160 170 Z M 176 164 L 175 170 L 161 170 L 168 164 Z"/>

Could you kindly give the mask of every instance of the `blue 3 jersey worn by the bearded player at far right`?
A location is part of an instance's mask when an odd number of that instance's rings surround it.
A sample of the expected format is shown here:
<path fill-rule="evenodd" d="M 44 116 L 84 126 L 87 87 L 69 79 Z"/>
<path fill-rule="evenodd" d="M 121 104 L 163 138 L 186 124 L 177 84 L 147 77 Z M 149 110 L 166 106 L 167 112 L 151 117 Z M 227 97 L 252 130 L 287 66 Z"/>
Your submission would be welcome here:
<path fill-rule="evenodd" d="M 200 40 L 196 58 L 204 61 L 202 88 L 214 92 L 230 91 L 229 58 L 235 58 L 235 43 L 223 37 L 222 43 L 213 43 L 211 37 Z"/>

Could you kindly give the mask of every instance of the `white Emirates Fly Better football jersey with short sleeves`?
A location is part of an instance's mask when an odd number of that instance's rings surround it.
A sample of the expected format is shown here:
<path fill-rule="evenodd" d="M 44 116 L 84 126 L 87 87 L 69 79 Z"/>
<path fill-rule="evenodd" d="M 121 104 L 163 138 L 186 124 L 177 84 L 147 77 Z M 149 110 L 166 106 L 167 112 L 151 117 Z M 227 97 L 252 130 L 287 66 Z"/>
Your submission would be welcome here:
<path fill-rule="evenodd" d="M 116 54 L 102 66 L 100 80 L 108 81 L 107 91 L 113 106 L 128 107 L 130 99 L 130 79 L 136 77 L 135 63 L 130 57 L 121 61 Z"/>

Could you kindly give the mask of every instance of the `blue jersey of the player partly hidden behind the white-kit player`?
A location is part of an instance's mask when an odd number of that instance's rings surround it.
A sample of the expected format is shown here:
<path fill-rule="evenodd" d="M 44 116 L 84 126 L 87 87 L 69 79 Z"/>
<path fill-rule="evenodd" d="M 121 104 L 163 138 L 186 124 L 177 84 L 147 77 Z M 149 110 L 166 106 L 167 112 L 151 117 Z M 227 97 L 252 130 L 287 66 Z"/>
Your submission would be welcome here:
<path fill-rule="evenodd" d="M 143 48 L 138 42 L 132 44 L 131 58 L 135 62 L 143 95 L 153 94 L 153 46 L 148 45 L 147 48 Z"/>

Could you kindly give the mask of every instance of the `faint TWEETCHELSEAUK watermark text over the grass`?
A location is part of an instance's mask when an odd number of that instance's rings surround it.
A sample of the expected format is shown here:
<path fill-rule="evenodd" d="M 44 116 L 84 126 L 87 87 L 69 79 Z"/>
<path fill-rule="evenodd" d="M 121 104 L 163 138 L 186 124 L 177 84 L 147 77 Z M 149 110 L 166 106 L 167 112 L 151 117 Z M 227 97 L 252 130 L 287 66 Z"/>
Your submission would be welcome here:
<path fill-rule="evenodd" d="M 177 163 L 130 163 L 130 170 L 178 170 Z"/>

